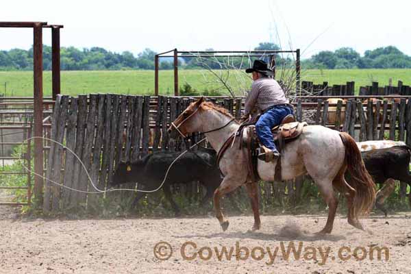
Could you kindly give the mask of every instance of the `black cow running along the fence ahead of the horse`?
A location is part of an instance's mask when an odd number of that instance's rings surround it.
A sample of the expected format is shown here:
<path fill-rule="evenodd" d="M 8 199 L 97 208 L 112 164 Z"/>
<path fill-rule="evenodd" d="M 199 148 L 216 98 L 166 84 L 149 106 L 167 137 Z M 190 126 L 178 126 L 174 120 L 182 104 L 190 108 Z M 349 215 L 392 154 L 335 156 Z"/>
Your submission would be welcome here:
<path fill-rule="evenodd" d="M 144 190 L 154 190 L 160 186 L 170 164 L 181 153 L 182 151 L 158 151 L 136 162 L 120 162 L 110 180 L 110 185 L 137 182 L 139 186 L 144 187 Z M 216 166 L 216 152 L 213 149 L 199 148 L 197 151 L 187 151 L 171 167 L 162 189 L 175 214 L 179 214 L 179 208 L 171 197 L 171 184 L 188 184 L 194 181 L 199 181 L 206 187 L 206 195 L 201 201 L 204 205 L 222 181 L 221 173 Z M 138 200 L 145 194 L 145 192 L 138 192 L 132 208 L 136 207 Z"/>

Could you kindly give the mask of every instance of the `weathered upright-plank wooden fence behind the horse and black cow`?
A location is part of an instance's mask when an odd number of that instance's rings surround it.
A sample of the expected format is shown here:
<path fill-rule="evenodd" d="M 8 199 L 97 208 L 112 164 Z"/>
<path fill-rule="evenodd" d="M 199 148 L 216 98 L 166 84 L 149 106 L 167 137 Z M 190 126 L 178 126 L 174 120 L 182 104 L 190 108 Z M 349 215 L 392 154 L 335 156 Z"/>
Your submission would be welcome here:
<path fill-rule="evenodd" d="M 92 182 L 97 188 L 108 185 L 110 175 L 119 160 L 136 160 L 149 151 L 160 149 L 179 151 L 184 142 L 172 140 L 166 131 L 173 121 L 194 98 L 149 97 L 131 95 L 59 95 L 55 102 L 51 138 L 64 143 L 63 149 L 54 142 L 46 144 L 46 177 L 68 188 L 95 192 L 82 164 L 75 159 L 71 149 L 84 162 Z M 240 116 L 244 105 L 242 98 L 210 99 L 219 103 L 235 116 Z M 299 121 L 321 124 L 348 132 L 356 140 L 405 140 L 411 145 L 411 101 L 369 101 L 362 103 L 350 99 L 332 105 L 319 100 L 307 103 L 302 99 L 295 103 Z M 331 116 L 335 117 L 334 120 Z M 192 142 L 200 134 L 190 136 Z M 302 182 L 264 184 L 260 189 L 262 203 L 277 201 L 282 197 L 301 197 Z M 200 187 L 193 186 L 194 194 L 200 195 Z M 43 209 L 58 211 L 92 203 L 97 195 L 80 193 L 61 188 L 46 180 Z"/>

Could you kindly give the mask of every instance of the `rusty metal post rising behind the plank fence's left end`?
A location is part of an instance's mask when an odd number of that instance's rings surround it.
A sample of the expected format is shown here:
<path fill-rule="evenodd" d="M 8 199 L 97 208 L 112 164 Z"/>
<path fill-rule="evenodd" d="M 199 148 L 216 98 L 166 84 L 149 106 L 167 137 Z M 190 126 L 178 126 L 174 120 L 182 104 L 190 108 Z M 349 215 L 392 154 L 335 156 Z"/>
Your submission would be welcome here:
<path fill-rule="evenodd" d="M 53 100 L 60 94 L 60 27 L 51 28 L 51 77 L 53 78 Z"/>

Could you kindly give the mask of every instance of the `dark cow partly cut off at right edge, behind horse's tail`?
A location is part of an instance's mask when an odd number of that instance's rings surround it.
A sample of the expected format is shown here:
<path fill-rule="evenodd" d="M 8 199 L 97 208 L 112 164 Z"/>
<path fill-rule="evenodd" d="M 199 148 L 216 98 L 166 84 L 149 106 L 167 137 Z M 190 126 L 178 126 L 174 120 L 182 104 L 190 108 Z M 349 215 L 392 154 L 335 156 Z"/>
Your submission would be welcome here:
<path fill-rule="evenodd" d="M 364 151 L 361 155 L 374 182 L 384 183 L 384 186 L 377 192 L 375 206 L 387 215 L 383 203 L 395 189 L 394 180 L 406 182 L 411 186 L 411 148 L 408 146 L 395 146 L 387 149 Z M 411 203 L 411 193 L 408 200 Z"/>

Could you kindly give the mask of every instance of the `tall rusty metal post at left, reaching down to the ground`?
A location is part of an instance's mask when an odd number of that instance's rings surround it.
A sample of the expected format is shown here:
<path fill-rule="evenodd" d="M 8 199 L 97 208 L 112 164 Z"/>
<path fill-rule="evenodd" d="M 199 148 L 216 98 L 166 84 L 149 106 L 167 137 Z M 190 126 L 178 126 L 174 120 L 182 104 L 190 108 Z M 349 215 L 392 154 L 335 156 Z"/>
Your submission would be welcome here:
<path fill-rule="evenodd" d="M 36 23 L 33 28 L 34 33 L 34 136 L 42 136 L 42 25 Z M 43 174 L 42 139 L 34 139 L 34 172 Z M 42 204 L 42 177 L 34 177 L 34 195 L 36 205 Z"/>

